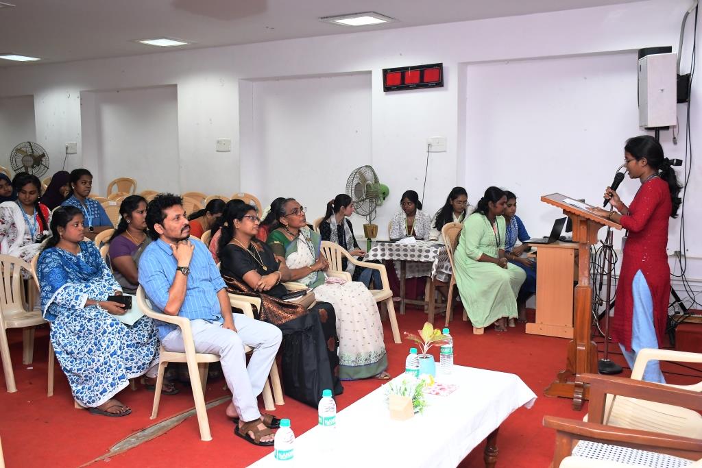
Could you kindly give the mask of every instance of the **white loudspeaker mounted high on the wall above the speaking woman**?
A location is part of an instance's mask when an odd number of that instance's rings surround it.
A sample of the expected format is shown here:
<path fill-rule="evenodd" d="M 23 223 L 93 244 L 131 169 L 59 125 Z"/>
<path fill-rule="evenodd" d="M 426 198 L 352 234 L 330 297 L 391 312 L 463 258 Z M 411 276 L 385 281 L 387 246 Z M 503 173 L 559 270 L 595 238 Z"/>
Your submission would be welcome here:
<path fill-rule="evenodd" d="M 639 60 L 639 126 L 677 125 L 677 55 L 656 53 Z"/>

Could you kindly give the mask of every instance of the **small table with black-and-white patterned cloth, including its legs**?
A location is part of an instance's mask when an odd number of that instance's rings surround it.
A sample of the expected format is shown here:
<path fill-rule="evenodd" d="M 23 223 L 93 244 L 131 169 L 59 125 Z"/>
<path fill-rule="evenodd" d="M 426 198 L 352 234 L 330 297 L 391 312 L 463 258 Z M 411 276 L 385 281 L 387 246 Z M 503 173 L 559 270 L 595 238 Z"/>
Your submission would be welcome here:
<path fill-rule="evenodd" d="M 416 241 L 415 243 L 373 241 L 364 257 L 369 260 L 394 260 L 395 272 L 399 272 L 399 313 L 404 314 L 407 304 L 426 305 L 429 321 L 434 321 L 434 288 L 429 288 L 426 301 L 408 300 L 405 297 L 405 279 L 429 276 L 432 280 L 451 281 L 451 262 L 446 246 L 439 241 Z"/>

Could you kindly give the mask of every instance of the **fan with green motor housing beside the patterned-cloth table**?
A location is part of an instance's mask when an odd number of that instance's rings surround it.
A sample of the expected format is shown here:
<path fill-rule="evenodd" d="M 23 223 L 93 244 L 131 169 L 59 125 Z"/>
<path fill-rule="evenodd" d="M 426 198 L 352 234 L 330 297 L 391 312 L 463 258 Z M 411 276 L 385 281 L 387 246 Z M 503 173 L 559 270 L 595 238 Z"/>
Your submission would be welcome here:
<path fill-rule="evenodd" d="M 376 219 L 376 208 L 383 204 L 390 189 L 378 180 L 378 174 L 371 166 L 361 166 L 354 169 L 346 181 L 346 194 L 351 197 L 356 213 L 365 216 L 368 221 L 363 225 L 363 232 L 371 248 L 371 239 L 378 235 L 378 226 L 373 224 Z"/>

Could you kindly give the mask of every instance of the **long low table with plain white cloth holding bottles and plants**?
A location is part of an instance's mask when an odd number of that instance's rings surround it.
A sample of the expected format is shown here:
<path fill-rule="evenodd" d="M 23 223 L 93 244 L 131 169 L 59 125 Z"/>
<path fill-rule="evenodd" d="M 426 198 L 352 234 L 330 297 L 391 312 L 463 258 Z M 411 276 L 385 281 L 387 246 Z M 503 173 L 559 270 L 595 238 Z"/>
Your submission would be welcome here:
<path fill-rule="evenodd" d="M 453 468 L 487 439 L 484 462 L 494 467 L 500 425 L 518 408 L 531 408 L 536 394 L 517 375 L 493 370 L 453 366 L 449 379 L 456 391 L 427 395 L 423 413 L 406 421 L 390 419 L 384 385 L 374 390 L 336 415 L 331 447 L 324 427 L 296 436 L 296 466 Z M 274 466 L 272 453 L 251 465 Z"/>

